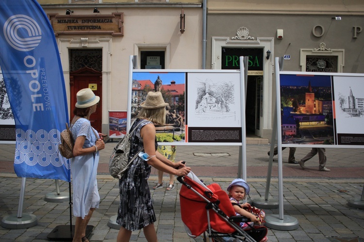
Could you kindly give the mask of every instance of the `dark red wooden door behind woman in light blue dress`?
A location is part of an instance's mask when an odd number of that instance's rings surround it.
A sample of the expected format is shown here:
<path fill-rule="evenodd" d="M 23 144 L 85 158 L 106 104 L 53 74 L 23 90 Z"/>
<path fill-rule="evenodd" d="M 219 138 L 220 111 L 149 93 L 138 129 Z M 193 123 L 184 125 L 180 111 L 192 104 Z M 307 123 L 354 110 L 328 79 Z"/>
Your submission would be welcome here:
<path fill-rule="evenodd" d="M 101 132 L 102 124 L 102 76 L 101 72 L 95 71 L 90 68 L 82 68 L 76 72 L 70 73 L 70 91 L 71 91 L 71 115 L 70 119 L 73 119 L 73 108 L 77 102 L 76 94 L 83 88 L 91 88 L 96 96 L 100 97 L 99 106 L 96 108 L 96 112 L 91 114 L 90 122 L 98 132 Z"/>

